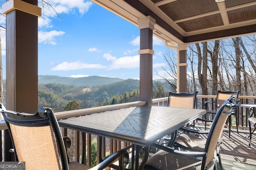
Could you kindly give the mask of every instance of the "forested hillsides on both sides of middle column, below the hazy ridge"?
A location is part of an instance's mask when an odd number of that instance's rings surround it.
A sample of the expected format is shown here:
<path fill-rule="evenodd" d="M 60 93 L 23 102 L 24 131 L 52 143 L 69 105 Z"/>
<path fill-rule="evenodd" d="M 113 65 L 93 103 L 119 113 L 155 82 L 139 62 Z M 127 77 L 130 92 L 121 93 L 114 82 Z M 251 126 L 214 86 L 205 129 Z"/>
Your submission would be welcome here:
<path fill-rule="evenodd" d="M 38 84 L 38 107 L 51 107 L 55 112 L 63 111 L 66 105 L 76 100 L 81 108 L 89 108 L 139 100 L 139 80 L 122 80 L 97 86 L 75 86 L 65 84 Z M 167 96 L 168 89 L 153 83 L 154 98 Z"/>

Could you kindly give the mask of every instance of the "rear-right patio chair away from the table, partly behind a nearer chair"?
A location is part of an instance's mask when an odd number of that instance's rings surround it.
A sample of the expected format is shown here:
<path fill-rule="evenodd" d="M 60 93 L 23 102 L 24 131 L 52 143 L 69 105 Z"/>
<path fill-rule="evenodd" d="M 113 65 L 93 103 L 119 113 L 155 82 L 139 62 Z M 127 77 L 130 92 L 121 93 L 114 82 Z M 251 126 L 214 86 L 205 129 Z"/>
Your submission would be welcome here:
<path fill-rule="evenodd" d="M 236 98 L 238 98 L 238 93 L 239 91 L 235 91 L 235 92 L 222 92 L 220 90 L 218 90 L 217 95 L 216 95 L 216 101 L 214 102 L 205 102 L 204 106 L 206 111 L 206 114 L 204 115 L 204 118 L 198 118 L 197 120 L 203 121 L 204 122 L 204 130 L 206 130 L 206 124 L 207 122 L 212 122 L 213 121 L 213 117 L 216 114 L 217 110 L 220 108 L 220 106 L 222 106 L 224 104 L 224 102 L 230 97 L 230 96 L 234 96 Z M 214 110 L 208 110 L 208 104 L 215 104 L 214 105 Z M 208 114 L 209 119 L 206 119 L 206 115 Z M 237 122 L 237 109 L 233 109 L 231 115 L 228 117 L 228 137 L 230 138 L 230 129 L 231 129 L 231 124 L 232 124 L 232 115 L 235 116 L 236 119 L 236 131 L 238 133 L 238 122 Z"/>

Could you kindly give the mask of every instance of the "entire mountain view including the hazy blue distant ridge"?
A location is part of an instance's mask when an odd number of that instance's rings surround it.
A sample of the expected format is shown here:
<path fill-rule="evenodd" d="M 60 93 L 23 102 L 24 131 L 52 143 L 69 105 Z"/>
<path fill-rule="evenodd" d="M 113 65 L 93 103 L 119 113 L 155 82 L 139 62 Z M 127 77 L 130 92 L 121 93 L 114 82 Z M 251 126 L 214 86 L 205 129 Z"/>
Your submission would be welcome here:
<path fill-rule="evenodd" d="M 166 97 L 170 85 L 164 80 L 153 81 L 155 98 Z M 159 85 L 164 84 L 164 86 Z M 162 86 L 162 88 L 159 88 Z M 4 80 L 4 96 L 5 96 Z M 75 101 L 79 108 L 89 108 L 140 99 L 140 81 L 101 76 L 70 78 L 60 76 L 38 76 L 38 108 L 51 107 L 55 112 L 63 111 L 68 103 Z M 157 92 L 161 90 L 161 92 Z M 5 103 L 5 97 L 4 97 Z"/>

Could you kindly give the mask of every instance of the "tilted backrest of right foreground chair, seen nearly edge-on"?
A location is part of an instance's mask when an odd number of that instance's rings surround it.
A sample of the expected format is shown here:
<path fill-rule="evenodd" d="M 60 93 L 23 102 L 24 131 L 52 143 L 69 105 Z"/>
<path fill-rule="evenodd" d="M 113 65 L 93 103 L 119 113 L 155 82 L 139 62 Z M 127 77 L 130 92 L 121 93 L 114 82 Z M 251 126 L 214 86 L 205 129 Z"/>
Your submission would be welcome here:
<path fill-rule="evenodd" d="M 222 131 L 226 120 L 228 116 L 232 113 L 232 109 L 236 108 L 239 105 L 237 104 L 237 101 L 238 100 L 236 97 L 230 97 L 218 109 L 206 140 L 204 152 L 207 152 L 207 156 L 204 157 L 202 160 L 201 169 L 206 169 L 206 166 L 209 165 L 210 162 L 212 162 L 218 139 L 220 139 L 220 137 L 222 136 Z"/>

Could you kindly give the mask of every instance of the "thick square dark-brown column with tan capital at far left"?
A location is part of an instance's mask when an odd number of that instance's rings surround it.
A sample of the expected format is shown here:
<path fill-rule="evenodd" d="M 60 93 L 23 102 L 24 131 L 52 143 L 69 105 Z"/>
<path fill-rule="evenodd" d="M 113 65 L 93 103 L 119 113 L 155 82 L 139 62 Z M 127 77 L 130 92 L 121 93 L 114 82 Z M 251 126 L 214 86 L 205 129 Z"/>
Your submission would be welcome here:
<path fill-rule="evenodd" d="M 6 109 L 35 113 L 38 110 L 37 0 L 9 0 L 6 14 Z"/>

